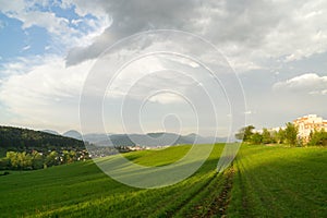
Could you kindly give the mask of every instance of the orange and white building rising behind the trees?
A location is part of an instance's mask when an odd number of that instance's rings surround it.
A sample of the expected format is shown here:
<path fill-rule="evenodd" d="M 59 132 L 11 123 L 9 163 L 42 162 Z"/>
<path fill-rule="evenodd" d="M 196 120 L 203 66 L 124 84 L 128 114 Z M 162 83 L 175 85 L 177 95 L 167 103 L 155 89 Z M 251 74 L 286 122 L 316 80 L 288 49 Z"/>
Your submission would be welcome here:
<path fill-rule="evenodd" d="M 298 118 L 293 121 L 294 125 L 299 128 L 299 137 L 303 140 L 304 143 L 308 142 L 311 132 L 326 130 L 327 131 L 327 120 L 316 114 L 308 114 L 302 118 Z"/>

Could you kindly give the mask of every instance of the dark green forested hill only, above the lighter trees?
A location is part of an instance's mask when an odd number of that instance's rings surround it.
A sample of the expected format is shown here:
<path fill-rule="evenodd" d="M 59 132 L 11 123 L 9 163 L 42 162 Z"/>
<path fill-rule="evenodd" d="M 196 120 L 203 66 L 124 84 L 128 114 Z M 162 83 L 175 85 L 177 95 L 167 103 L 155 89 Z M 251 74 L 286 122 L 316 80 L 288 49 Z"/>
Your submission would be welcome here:
<path fill-rule="evenodd" d="M 0 126 L 0 147 L 24 149 L 83 148 L 82 141 L 28 129 Z"/>

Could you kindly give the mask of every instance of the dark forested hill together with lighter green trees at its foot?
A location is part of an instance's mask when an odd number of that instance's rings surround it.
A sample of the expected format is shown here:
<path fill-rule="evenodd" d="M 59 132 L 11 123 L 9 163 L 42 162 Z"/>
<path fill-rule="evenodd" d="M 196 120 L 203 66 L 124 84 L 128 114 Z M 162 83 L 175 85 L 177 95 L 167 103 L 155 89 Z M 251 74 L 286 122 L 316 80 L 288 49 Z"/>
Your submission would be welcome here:
<path fill-rule="evenodd" d="M 0 170 L 36 170 L 89 158 L 83 141 L 12 126 L 0 126 Z"/>

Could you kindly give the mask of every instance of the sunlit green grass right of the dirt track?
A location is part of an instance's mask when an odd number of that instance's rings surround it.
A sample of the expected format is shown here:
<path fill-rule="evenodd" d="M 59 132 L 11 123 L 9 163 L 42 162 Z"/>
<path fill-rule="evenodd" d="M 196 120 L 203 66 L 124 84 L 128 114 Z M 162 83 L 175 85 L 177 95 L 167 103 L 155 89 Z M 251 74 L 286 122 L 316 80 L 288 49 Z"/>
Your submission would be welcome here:
<path fill-rule="evenodd" d="M 327 217 L 327 149 L 243 145 L 231 217 Z"/>

